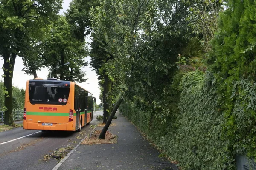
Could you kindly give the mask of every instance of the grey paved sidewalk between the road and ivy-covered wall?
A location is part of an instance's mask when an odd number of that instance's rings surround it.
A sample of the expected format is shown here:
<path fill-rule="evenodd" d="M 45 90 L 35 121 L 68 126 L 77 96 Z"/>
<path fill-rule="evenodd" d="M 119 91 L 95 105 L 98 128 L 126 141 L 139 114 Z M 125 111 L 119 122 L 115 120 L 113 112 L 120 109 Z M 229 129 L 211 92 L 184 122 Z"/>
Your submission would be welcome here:
<path fill-rule="evenodd" d="M 178 170 L 128 122 L 116 113 L 116 126 L 108 131 L 118 136 L 117 144 L 79 145 L 58 170 Z M 101 130 L 103 127 L 96 127 Z"/>

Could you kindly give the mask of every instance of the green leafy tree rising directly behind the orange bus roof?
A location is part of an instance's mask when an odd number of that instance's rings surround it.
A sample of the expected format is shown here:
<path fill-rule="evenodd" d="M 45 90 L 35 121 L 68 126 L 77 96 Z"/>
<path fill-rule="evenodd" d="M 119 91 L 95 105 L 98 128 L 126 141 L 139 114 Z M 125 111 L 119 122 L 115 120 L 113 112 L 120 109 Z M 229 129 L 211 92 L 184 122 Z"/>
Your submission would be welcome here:
<path fill-rule="evenodd" d="M 59 65 L 70 62 L 69 65 L 54 69 L 52 77 L 61 80 L 84 82 L 85 72 L 82 67 L 87 66 L 85 57 L 87 57 L 87 47 L 85 42 L 73 37 L 70 24 L 66 17 L 58 16 L 47 29 L 47 35 L 37 43 L 38 55 L 24 60 L 25 71 L 28 74 L 34 74 L 41 67 L 47 67 L 51 71 Z M 35 64 L 37 63 L 37 64 Z"/>

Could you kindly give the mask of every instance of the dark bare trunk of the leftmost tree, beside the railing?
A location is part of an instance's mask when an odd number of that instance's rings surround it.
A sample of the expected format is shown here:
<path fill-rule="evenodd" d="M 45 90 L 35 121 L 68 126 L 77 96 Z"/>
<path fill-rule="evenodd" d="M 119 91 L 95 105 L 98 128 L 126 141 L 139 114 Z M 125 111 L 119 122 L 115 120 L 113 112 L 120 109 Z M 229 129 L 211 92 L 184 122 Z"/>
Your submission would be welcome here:
<path fill-rule="evenodd" d="M 3 73 L 4 73 L 4 87 L 6 88 L 6 93 L 4 95 L 4 105 L 6 107 L 4 111 L 4 124 L 12 125 L 12 77 L 13 69 L 15 64 L 17 54 L 5 53 L 3 55 Z"/>

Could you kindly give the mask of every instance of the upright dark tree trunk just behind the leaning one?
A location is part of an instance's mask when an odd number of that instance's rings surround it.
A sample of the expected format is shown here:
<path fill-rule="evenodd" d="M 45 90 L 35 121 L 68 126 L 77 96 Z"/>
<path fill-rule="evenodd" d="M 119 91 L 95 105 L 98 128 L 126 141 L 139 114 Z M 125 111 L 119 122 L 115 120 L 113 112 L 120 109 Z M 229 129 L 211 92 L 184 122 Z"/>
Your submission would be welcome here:
<path fill-rule="evenodd" d="M 104 72 L 104 84 L 103 84 L 103 123 L 106 123 L 110 115 L 110 102 L 107 94 L 111 89 L 111 82 L 108 79 L 108 75 Z"/>

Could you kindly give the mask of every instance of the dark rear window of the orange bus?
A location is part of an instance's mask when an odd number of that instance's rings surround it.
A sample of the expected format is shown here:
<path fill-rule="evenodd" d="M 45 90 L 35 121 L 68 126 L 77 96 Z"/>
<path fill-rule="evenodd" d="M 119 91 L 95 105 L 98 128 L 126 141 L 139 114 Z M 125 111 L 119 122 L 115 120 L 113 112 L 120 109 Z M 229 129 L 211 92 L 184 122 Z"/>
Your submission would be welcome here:
<path fill-rule="evenodd" d="M 31 104 L 66 105 L 70 93 L 70 82 L 29 81 L 29 101 Z"/>

